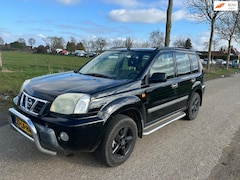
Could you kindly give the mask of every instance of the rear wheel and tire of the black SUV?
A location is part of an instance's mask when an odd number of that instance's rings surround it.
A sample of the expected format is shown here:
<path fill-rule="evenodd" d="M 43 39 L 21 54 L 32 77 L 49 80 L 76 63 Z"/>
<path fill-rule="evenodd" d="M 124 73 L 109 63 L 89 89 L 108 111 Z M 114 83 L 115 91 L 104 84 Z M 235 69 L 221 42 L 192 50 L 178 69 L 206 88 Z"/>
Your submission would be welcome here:
<path fill-rule="evenodd" d="M 198 93 L 193 93 L 188 109 L 186 110 L 186 119 L 193 120 L 197 117 L 199 107 L 200 107 L 201 98 Z"/>

